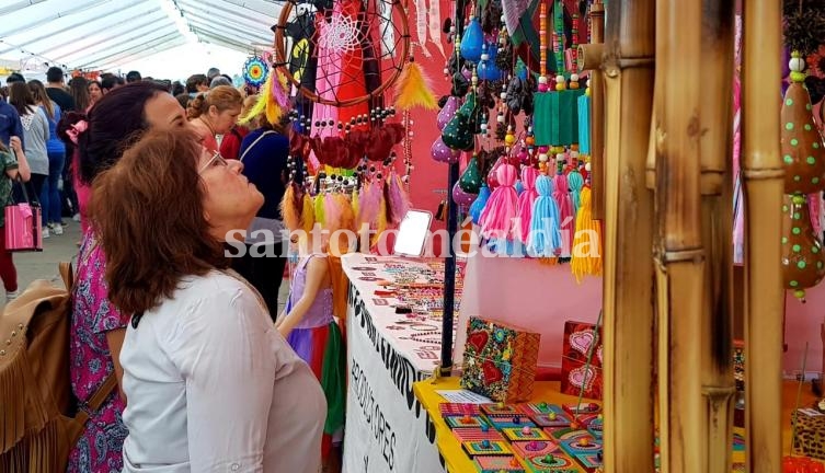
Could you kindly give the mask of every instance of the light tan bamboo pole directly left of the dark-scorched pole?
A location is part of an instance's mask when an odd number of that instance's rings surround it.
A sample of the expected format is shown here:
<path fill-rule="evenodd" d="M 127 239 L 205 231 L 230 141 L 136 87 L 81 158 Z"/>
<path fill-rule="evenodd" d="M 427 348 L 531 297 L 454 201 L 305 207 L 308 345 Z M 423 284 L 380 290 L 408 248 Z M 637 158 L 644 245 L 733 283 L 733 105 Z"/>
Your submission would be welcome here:
<path fill-rule="evenodd" d="M 701 397 L 706 270 L 699 161 L 701 13 L 701 2 L 677 2 L 661 19 L 664 23 L 656 25 L 658 42 L 678 44 L 678 54 L 668 50 L 656 57 L 667 85 L 661 90 L 663 114 L 657 131 L 664 139 L 656 142 L 658 234 L 654 254 L 660 310 L 661 464 L 662 471 L 669 473 L 701 472 L 708 464 Z"/>

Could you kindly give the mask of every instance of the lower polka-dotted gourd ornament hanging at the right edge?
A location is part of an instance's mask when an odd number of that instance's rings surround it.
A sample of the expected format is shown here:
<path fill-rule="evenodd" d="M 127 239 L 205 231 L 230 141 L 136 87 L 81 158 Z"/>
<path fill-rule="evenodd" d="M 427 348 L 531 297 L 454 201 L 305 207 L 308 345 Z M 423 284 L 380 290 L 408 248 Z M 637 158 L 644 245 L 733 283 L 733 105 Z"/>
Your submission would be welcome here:
<path fill-rule="evenodd" d="M 807 199 L 784 196 L 782 205 L 782 278 L 784 287 L 804 300 L 805 289 L 825 277 L 825 255 L 813 232 Z"/>

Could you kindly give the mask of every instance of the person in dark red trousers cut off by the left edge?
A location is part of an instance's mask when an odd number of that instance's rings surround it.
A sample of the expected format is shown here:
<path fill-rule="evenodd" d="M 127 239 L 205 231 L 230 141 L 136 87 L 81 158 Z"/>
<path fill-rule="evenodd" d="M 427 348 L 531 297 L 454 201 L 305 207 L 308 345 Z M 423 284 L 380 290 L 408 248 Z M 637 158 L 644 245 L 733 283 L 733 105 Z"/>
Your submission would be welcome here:
<path fill-rule="evenodd" d="M 11 150 L 0 142 L 0 204 L 5 207 L 12 204 L 12 187 L 15 180 L 28 182 L 31 171 L 26 155 L 23 152 L 23 145 L 18 137 L 11 137 Z M 18 290 L 18 269 L 14 267 L 11 252 L 5 250 L 5 214 L 0 212 L 0 279 L 3 280 L 5 289 L 5 303 L 20 296 Z"/>

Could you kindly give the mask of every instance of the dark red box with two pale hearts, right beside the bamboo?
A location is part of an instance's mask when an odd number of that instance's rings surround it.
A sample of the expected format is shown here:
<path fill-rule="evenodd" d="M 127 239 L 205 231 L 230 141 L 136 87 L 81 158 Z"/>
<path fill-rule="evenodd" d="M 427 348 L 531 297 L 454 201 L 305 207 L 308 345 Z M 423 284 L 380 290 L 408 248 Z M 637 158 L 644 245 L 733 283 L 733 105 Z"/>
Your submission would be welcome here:
<path fill-rule="evenodd" d="M 581 392 L 586 399 L 601 399 L 601 330 L 596 343 L 595 327 L 591 323 L 564 323 L 561 358 L 561 392 L 564 394 L 577 396 Z M 591 365 L 587 366 L 591 351 Z"/>

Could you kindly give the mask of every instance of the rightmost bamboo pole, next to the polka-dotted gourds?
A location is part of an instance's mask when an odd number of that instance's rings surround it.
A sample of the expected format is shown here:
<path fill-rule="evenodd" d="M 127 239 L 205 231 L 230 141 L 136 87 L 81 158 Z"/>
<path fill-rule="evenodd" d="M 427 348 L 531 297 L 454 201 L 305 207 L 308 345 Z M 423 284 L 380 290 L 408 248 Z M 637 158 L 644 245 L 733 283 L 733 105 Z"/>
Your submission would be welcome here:
<path fill-rule="evenodd" d="M 779 150 L 780 2 L 744 0 L 742 143 L 745 188 L 746 470 L 781 469 L 783 174 Z"/>

